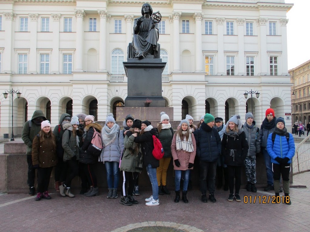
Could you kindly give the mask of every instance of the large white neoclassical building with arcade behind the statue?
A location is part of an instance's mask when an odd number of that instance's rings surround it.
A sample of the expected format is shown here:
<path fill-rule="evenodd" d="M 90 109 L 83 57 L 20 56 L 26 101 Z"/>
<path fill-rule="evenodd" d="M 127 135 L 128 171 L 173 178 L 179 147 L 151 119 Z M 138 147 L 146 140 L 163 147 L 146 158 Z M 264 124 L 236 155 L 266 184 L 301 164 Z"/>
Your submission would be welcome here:
<path fill-rule="evenodd" d="M 52 126 L 62 113 L 104 121 L 123 106 L 123 61 L 133 19 L 144 1 L 14 0 L 0 2 L 0 134 L 15 134 L 34 110 Z M 162 95 L 174 120 L 209 112 L 229 118 L 265 110 L 291 113 L 284 0 L 160 0 Z M 145 86 L 145 88 L 151 88 Z M 21 97 L 2 92 L 19 90 Z M 245 91 L 257 91 L 245 99 Z M 253 109 L 253 110 L 252 110 Z M 13 117 L 12 117 L 13 113 Z M 130 112 L 128 112 L 130 113 Z M 182 117 L 183 115 L 183 117 Z M 159 117 L 158 117 L 159 119 Z M 291 124 L 286 118 L 287 126 Z"/>

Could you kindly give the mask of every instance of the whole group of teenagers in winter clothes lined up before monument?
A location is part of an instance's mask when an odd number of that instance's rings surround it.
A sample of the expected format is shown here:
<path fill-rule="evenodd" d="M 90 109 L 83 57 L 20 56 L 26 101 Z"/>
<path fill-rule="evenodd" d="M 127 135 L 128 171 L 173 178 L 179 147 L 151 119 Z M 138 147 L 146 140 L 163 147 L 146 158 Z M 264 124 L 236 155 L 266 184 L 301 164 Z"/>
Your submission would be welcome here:
<path fill-rule="evenodd" d="M 134 119 L 129 114 L 121 129 L 113 114 L 108 114 L 102 127 L 94 122 L 94 116 L 78 114 L 71 117 L 62 114 L 59 125 L 53 132 L 51 124 L 40 110 L 23 127 L 22 139 L 27 145 L 29 194 L 35 195 L 35 170 L 38 175 L 38 189 L 35 200 L 51 199 L 48 185 L 55 166 L 55 189 L 61 196 L 74 197 L 70 186 L 74 177 L 81 178 L 80 194 L 86 197 L 99 195 L 95 165 L 103 162 L 108 184 L 107 198 L 117 198 L 119 175 L 123 176 L 121 200 L 124 205 L 137 204 L 134 195 L 139 195 L 139 174 L 146 167 L 152 186 L 152 195 L 146 198 L 146 205 L 159 205 L 158 195 L 170 194 L 166 187 L 167 170 L 173 160 L 175 171 L 174 202 L 188 203 L 187 191 L 194 162 L 199 172 L 201 201 L 215 199 L 215 176 L 217 187 L 229 190 L 228 201 L 241 201 L 241 170 L 245 165 L 246 190 L 256 192 L 256 155 L 263 153 L 267 187 L 275 195 L 284 191 L 289 196 L 290 163 L 295 153 L 293 136 L 287 132 L 283 118 L 276 118 L 273 109 L 266 110 L 261 128 L 257 127 L 253 114 L 245 115 L 242 123 L 239 115 L 233 115 L 226 124 L 222 118 L 211 114 L 201 116 L 197 126 L 193 117 L 186 115 L 176 131 L 169 122 L 169 116 L 162 112 L 157 127 L 148 120 Z M 93 136 L 98 132 L 102 139 L 102 152 L 94 156 L 89 152 Z M 153 136 L 157 137 L 164 150 L 164 157 L 153 156 Z M 196 157 L 197 155 L 197 157 Z M 196 157 L 196 159 L 195 159 Z M 280 188 L 280 177 L 283 190 Z M 182 188 L 182 191 L 181 191 Z M 286 204 L 291 204 L 287 201 Z"/>

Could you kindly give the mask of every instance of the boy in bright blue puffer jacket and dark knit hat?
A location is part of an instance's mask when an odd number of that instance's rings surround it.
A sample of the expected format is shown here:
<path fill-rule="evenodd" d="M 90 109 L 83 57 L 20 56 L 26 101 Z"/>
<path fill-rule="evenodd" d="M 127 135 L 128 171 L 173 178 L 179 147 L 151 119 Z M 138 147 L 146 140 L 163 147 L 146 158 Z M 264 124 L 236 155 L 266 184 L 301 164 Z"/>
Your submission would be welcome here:
<path fill-rule="evenodd" d="M 272 134 L 275 133 L 275 136 Z M 284 202 L 291 204 L 290 193 L 290 163 L 295 154 L 295 144 L 293 135 L 287 132 L 285 128 L 284 118 L 279 117 L 276 120 L 276 128 L 274 132 L 268 135 L 267 151 L 271 157 L 272 170 L 273 170 L 273 184 L 276 196 L 280 192 L 280 176 L 283 179 L 283 191 L 286 196 Z M 288 136 L 289 135 L 289 136 Z M 287 140 L 287 138 L 289 140 Z"/>

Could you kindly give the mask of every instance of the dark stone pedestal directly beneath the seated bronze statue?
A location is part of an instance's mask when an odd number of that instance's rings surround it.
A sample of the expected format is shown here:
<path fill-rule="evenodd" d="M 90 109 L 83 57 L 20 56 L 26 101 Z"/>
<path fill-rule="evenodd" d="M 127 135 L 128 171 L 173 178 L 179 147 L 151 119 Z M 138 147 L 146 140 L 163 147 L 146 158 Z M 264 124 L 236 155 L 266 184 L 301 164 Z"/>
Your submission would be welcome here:
<path fill-rule="evenodd" d="M 165 107 L 162 71 L 166 62 L 162 62 L 162 59 L 128 58 L 123 64 L 128 78 L 125 107 L 144 107 L 147 98 L 152 100 L 150 107 Z"/>

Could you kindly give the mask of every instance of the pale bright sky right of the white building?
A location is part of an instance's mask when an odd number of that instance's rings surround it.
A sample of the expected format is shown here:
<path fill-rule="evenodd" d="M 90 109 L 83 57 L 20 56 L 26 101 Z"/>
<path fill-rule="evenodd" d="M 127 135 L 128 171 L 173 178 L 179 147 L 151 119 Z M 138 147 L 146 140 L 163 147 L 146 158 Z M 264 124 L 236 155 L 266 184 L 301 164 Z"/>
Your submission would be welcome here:
<path fill-rule="evenodd" d="M 310 60 L 310 0 L 285 0 L 294 6 L 286 14 L 288 69 Z"/>

